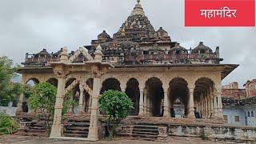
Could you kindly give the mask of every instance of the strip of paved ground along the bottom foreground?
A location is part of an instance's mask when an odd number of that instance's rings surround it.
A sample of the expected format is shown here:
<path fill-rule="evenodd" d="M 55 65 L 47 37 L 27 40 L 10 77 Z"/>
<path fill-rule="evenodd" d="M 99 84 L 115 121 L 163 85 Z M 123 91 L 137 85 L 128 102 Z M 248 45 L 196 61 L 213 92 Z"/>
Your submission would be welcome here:
<path fill-rule="evenodd" d="M 86 142 L 86 141 L 67 141 L 67 140 L 53 140 L 48 138 L 36 138 L 36 137 L 24 137 L 17 135 L 0 136 L 0 143 L 14 143 L 14 144 L 221 144 L 222 142 L 203 141 L 201 138 L 172 138 L 170 142 L 148 142 L 148 141 L 133 141 L 133 140 L 114 140 L 114 141 L 98 141 L 98 142 Z"/>

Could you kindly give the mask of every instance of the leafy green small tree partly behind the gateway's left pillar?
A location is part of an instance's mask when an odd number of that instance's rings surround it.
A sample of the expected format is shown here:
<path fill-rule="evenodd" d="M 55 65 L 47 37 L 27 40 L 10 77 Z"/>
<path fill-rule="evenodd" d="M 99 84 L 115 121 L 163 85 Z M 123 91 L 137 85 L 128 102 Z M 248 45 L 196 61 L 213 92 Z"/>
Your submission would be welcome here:
<path fill-rule="evenodd" d="M 45 122 L 47 132 L 50 134 L 52 122 L 54 120 L 54 106 L 56 100 L 57 88 L 50 83 L 42 82 L 35 85 L 28 98 L 29 106 L 32 110 L 38 113 L 40 119 Z M 67 112 L 67 108 L 74 102 L 70 98 L 66 98 L 63 102 L 63 113 Z"/>

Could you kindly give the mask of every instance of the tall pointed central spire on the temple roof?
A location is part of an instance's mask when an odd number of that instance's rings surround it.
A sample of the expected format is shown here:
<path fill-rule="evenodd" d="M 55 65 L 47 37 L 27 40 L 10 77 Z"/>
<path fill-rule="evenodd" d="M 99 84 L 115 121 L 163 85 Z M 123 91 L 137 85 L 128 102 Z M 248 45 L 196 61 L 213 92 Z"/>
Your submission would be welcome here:
<path fill-rule="evenodd" d="M 117 33 L 114 34 L 114 40 L 117 41 L 134 41 L 141 42 L 143 39 L 154 39 L 154 27 L 151 25 L 149 19 L 138 0 L 138 4 L 134 7 L 130 16 L 122 24 Z"/>

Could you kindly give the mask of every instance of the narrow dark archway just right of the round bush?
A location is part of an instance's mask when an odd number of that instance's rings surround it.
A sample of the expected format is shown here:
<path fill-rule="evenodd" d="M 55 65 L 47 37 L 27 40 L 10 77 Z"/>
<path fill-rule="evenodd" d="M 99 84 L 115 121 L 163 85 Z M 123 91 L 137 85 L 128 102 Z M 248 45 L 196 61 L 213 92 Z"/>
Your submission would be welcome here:
<path fill-rule="evenodd" d="M 138 115 L 139 111 L 139 83 L 136 78 L 130 78 L 126 83 L 126 94 L 134 102 L 134 109 L 130 111 L 130 115 Z"/>

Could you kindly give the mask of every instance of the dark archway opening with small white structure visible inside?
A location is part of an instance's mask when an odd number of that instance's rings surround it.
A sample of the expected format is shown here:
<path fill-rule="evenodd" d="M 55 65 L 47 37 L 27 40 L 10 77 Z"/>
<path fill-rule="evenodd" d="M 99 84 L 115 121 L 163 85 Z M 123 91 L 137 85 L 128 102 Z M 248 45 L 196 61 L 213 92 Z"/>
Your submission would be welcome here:
<path fill-rule="evenodd" d="M 189 88 L 184 78 L 173 78 L 169 82 L 170 115 L 185 118 L 188 111 Z"/>

